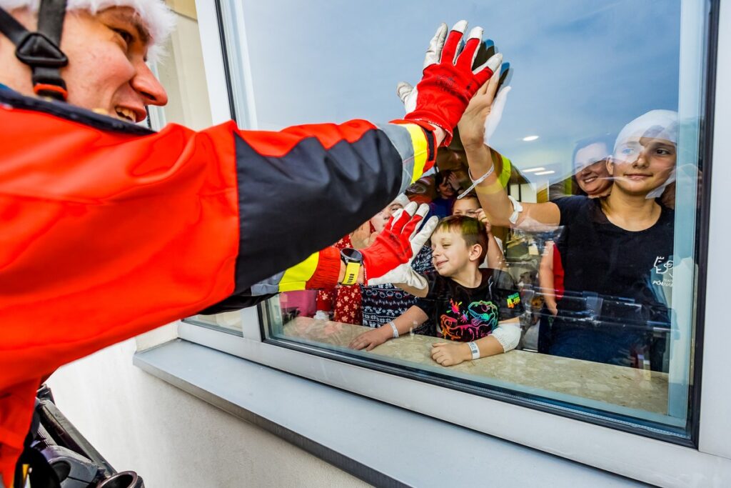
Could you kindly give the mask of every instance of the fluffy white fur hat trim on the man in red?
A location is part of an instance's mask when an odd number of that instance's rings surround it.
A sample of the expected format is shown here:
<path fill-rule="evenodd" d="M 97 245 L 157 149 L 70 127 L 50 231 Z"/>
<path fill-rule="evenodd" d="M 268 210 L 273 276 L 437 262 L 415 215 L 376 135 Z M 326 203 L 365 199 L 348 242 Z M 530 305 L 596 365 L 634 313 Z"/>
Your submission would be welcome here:
<path fill-rule="evenodd" d="M 29 8 L 38 12 L 40 0 L 0 0 L 0 7 L 10 11 Z M 150 33 L 148 59 L 155 61 L 162 54 L 162 45 L 175 28 L 175 14 L 162 0 L 67 0 L 66 10 L 88 10 L 92 15 L 110 7 L 131 7 Z"/>

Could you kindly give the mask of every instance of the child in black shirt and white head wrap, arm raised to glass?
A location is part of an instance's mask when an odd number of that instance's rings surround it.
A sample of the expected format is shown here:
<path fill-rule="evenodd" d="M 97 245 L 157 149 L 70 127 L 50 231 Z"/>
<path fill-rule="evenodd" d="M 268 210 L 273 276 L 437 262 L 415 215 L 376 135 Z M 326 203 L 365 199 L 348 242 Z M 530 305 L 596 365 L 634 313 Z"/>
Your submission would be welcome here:
<path fill-rule="evenodd" d="M 557 246 L 565 270 L 550 353 L 630 365 L 654 353 L 659 369 L 670 323 L 674 213 L 656 201 L 673 181 L 677 113 L 651 110 L 622 129 L 607 171 L 610 195 L 514 204 L 499 184 L 491 149 L 483 143 L 495 83 L 477 92 L 459 123 L 476 191 L 493 225 L 514 228 L 564 226 Z"/>

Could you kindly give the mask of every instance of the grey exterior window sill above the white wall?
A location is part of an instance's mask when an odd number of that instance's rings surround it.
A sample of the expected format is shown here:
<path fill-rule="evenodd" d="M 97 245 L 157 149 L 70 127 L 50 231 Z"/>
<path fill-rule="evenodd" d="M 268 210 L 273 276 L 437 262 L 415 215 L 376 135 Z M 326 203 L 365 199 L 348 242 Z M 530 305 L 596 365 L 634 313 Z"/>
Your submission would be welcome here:
<path fill-rule="evenodd" d="M 181 339 L 134 363 L 376 486 L 645 486 Z"/>

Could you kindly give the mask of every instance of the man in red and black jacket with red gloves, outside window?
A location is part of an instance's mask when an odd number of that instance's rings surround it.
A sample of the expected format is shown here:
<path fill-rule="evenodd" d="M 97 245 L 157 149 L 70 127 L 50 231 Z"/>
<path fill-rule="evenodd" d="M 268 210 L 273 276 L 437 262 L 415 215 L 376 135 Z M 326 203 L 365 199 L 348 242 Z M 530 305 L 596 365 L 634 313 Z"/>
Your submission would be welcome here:
<path fill-rule="evenodd" d="M 411 259 L 425 239 L 415 205 L 360 253 L 327 246 L 433 166 L 500 62 L 472 70 L 482 29 L 460 50 L 466 22 L 442 25 L 404 119 L 151 132 L 132 122 L 167 102 L 145 60 L 172 18 L 162 0 L 0 0 L 6 486 L 34 393 L 61 364 L 202 309 L 371 282 Z"/>

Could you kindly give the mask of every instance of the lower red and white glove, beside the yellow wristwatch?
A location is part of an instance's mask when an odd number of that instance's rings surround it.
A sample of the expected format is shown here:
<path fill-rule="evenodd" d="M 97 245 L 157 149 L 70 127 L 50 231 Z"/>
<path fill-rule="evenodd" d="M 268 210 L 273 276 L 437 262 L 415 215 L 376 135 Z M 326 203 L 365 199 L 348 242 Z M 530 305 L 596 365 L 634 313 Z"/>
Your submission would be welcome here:
<path fill-rule="evenodd" d="M 403 211 L 399 211 L 391 217 L 373 244 L 360 250 L 363 254 L 364 285 L 404 282 L 398 281 L 402 273 L 399 272 L 397 277 L 393 275 L 393 271 L 403 269 L 404 265 L 411 269 L 414 256 L 419 253 L 434 231 L 436 222 L 439 221 L 436 217 L 429 219 L 419 230 L 420 224 L 428 212 L 429 206 L 425 203 L 418 210 L 416 203 L 409 203 Z M 393 281 L 393 279 L 397 280 Z M 424 280 L 423 286 L 420 286 L 420 282 L 406 284 L 424 288 L 426 282 Z"/>

